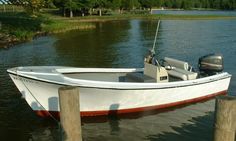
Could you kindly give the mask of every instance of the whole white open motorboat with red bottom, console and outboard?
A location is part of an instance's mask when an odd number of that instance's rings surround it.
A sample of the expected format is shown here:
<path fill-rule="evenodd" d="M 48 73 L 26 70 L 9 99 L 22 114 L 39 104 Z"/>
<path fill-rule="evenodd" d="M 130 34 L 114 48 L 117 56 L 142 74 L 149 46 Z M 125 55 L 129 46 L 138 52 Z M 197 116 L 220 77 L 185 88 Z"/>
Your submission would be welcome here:
<path fill-rule="evenodd" d="M 28 66 L 8 73 L 30 107 L 40 116 L 59 115 L 58 89 L 78 86 L 81 116 L 142 112 L 198 102 L 226 94 L 231 75 L 222 57 L 200 59 L 200 72 L 187 62 L 165 58 L 144 68 L 74 68 Z"/>

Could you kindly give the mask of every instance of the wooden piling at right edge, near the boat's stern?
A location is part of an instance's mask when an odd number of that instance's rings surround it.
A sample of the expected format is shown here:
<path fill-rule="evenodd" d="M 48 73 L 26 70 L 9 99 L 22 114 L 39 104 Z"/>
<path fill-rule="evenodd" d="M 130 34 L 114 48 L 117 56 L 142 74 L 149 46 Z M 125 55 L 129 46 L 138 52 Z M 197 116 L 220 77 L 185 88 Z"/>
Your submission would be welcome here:
<path fill-rule="evenodd" d="M 235 141 L 236 98 L 219 96 L 215 106 L 214 141 Z"/>

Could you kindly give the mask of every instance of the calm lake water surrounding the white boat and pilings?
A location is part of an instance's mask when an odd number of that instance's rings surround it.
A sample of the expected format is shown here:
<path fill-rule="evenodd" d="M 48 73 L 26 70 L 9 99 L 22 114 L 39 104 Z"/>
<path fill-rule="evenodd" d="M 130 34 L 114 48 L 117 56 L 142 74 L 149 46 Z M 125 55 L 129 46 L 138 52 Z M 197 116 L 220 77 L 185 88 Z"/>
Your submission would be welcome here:
<path fill-rule="evenodd" d="M 97 23 L 97 28 L 41 37 L 0 49 L 0 140 L 59 140 L 58 125 L 37 117 L 6 73 L 27 65 L 142 67 L 152 47 L 156 21 Z M 208 53 L 224 55 L 225 70 L 236 75 L 236 20 L 165 20 L 157 41 L 158 56 L 176 57 L 197 66 Z M 235 78 L 230 95 L 236 94 Z M 86 141 L 212 140 L 214 100 L 133 118 L 83 123 Z"/>

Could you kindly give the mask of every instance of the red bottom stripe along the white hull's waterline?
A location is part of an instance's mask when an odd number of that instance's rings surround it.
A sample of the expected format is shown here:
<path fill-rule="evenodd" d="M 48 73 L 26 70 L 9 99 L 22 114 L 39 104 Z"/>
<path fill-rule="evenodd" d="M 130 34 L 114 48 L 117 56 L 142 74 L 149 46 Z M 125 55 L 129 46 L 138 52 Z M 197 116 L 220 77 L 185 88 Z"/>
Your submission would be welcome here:
<path fill-rule="evenodd" d="M 139 112 L 145 112 L 145 111 L 151 111 L 151 110 L 158 110 L 158 109 L 164 109 L 164 108 L 170 108 L 174 106 L 184 105 L 184 104 L 190 104 L 190 103 L 196 103 L 204 100 L 211 99 L 217 95 L 225 95 L 227 94 L 227 90 L 217 92 L 214 94 L 206 95 L 203 97 L 168 103 L 168 104 L 162 104 L 157 106 L 150 106 L 150 107 L 140 107 L 140 108 L 133 108 L 133 109 L 122 109 L 122 110 L 112 110 L 112 111 L 84 111 L 81 112 L 82 117 L 92 117 L 92 116 L 107 116 L 107 115 L 119 115 L 119 114 L 128 114 L 128 113 L 139 113 Z M 58 111 L 35 111 L 37 115 L 41 117 L 60 117 L 60 112 Z"/>

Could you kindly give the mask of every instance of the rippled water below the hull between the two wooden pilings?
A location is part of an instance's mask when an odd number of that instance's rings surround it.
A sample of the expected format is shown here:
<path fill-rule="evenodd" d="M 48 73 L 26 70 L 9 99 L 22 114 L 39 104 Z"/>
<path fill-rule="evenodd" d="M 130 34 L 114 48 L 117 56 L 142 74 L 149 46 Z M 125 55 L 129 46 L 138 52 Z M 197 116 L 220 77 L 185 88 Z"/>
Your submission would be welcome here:
<path fill-rule="evenodd" d="M 214 111 L 214 100 L 175 109 L 174 111 L 142 116 L 137 119 L 119 118 L 104 123 L 84 123 L 82 128 L 86 132 L 83 132 L 83 137 L 88 141 L 97 139 L 143 141 L 172 140 L 173 138 L 168 135 L 177 136 L 180 134 L 179 137 L 186 135 L 186 138 L 204 140 L 211 138 L 211 130 L 213 130 L 212 111 Z M 115 120 L 119 125 L 118 129 L 115 128 L 117 124 L 114 123 Z M 115 127 L 112 125 L 113 123 Z M 185 134 L 185 131 L 190 129 L 189 126 L 194 127 L 192 128 L 194 130 Z M 209 128 L 211 129 L 208 132 Z M 111 132 L 112 130 L 113 132 Z"/>

